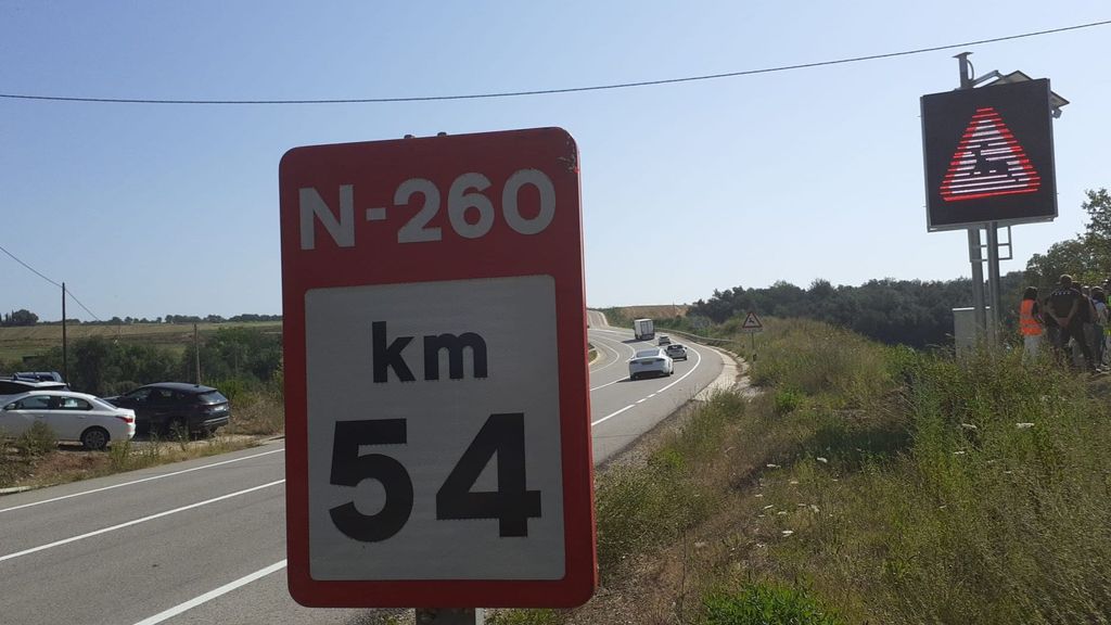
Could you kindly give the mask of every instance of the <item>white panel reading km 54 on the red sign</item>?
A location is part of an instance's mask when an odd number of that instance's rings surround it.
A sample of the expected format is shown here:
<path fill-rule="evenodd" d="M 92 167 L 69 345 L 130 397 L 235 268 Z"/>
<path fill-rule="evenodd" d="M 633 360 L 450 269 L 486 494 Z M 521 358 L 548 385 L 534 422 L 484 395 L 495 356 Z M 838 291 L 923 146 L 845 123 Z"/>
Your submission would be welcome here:
<path fill-rule="evenodd" d="M 318 288 L 304 311 L 312 578 L 563 577 L 553 279 Z"/>

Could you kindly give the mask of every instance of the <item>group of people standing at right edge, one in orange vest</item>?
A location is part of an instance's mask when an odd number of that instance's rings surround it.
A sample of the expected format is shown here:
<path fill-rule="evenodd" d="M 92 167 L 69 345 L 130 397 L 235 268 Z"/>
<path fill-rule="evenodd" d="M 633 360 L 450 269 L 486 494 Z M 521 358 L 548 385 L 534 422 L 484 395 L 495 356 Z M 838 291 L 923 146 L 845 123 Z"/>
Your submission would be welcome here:
<path fill-rule="evenodd" d="M 1053 291 L 1041 300 L 1038 289 L 1028 287 L 1019 306 L 1019 331 L 1027 355 L 1038 356 L 1044 335 L 1059 357 L 1074 363 L 1082 355 L 1090 371 L 1107 370 L 1111 358 L 1109 291 L 1111 278 L 1102 287 L 1088 287 L 1075 284 L 1069 275 L 1061 276 Z"/>

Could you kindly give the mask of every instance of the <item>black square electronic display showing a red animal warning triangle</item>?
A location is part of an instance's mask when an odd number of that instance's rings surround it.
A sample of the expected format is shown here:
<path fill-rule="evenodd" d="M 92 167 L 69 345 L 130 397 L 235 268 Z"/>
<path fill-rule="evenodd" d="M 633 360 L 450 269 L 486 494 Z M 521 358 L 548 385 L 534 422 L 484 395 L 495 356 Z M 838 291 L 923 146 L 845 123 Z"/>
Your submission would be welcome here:
<path fill-rule="evenodd" d="M 1049 80 L 922 97 L 930 230 L 1057 217 Z"/>

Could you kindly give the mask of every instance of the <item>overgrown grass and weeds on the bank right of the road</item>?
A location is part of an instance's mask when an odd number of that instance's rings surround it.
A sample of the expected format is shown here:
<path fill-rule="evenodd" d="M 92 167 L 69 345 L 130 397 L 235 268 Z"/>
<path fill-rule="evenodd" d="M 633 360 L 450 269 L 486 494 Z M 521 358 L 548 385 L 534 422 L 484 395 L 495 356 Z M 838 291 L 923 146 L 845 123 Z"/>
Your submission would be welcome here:
<path fill-rule="evenodd" d="M 595 597 L 494 623 L 1108 621 L 1108 383 L 764 321 L 763 393 L 599 473 Z"/>

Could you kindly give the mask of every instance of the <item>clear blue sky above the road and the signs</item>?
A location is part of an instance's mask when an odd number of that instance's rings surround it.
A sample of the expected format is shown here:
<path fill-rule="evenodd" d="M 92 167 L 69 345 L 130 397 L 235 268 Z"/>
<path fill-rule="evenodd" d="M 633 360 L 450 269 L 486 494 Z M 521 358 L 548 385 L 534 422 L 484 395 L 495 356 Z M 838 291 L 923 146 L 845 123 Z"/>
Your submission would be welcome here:
<path fill-rule="evenodd" d="M 1009 2 L 52 2 L 0 0 L 0 92 L 374 98 L 760 69 L 1111 19 L 1102 0 Z M 969 47 L 1071 100 L 1054 122 L 1060 217 L 1111 186 L 1111 26 Z M 278 161 L 302 145 L 560 126 L 582 162 L 591 306 L 690 302 L 815 278 L 968 276 L 925 231 L 919 97 L 959 50 L 542 97 L 339 106 L 0 99 L 0 246 L 98 317 L 281 311 Z M 644 250 L 657 267 L 631 270 Z M 0 310 L 58 319 L 56 287 L 0 255 Z M 90 316 L 71 306 L 71 317 Z"/>

